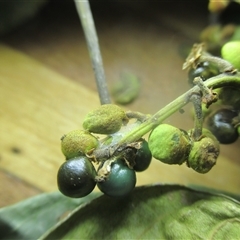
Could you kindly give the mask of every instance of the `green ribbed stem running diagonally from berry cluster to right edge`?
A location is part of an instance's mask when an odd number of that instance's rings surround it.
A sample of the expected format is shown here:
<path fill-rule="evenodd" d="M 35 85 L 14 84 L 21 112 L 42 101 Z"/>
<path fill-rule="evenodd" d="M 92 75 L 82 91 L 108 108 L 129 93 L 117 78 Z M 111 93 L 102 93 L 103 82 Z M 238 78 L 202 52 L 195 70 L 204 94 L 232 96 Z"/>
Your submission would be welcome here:
<path fill-rule="evenodd" d="M 240 73 L 229 75 L 220 74 L 215 77 L 209 78 L 204 82 L 204 85 L 208 88 L 220 88 L 224 86 L 240 86 Z M 195 93 L 199 93 L 201 90 L 198 86 L 194 86 L 186 93 L 182 94 L 174 101 L 166 105 L 164 108 L 159 110 L 157 113 L 149 117 L 145 122 L 140 124 L 138 127 L 130 131 L 125 135 L 118 143 L 118 147 L 124 144 L 129 144 L 139 140 L 142 136 L 153 130 L 159 124 L 161 124 L 166 118 L 183 108 L 190 100 L 191 96 Z M 117 147 L 117 148 L 118 148 Z"/>

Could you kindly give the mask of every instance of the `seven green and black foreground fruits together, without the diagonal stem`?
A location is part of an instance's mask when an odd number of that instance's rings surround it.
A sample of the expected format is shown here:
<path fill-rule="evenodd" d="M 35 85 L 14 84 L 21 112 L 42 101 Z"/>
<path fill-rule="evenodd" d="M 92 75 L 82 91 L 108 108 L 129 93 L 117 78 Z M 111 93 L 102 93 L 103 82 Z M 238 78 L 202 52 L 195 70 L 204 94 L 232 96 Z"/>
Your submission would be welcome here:
<path fill-rule="evenodd" d="M 108 196 L 125 196 L 136 185 L 136 172 L 146 170 L 152 156 L 167 164 L 186 162 L 199 173 L 208 172 L 216 163 L 219 144 L 207 129 L 195 141 L 192 130 L 160 124 L 151 131 L 148 142 L 140 138 L 116 148 L 126 132 L 141 124 L 139 119 L 128 121 L 120 107 L 102 105 L 86 116 L 84 130 L 71 131 L 61 138 L 66 161 L 59 168 L 57 181 L 64 195 L 84 197 L 97 185 Z"/>

